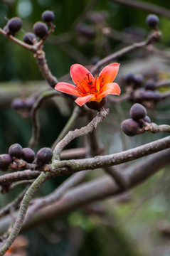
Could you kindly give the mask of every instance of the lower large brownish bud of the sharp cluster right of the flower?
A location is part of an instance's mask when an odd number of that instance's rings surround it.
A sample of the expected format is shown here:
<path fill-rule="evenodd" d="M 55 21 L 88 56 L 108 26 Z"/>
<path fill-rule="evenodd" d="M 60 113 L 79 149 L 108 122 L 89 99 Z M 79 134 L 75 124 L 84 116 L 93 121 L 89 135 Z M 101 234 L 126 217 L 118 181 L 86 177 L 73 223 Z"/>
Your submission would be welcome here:
<path fill-rule="evenodd" d="M 137 135 L 137 130 L 139 129 L 139 124 L 133 119 L 125 119 L 121 124 L 122 131 L 127 134 L 127 136 Z"/>

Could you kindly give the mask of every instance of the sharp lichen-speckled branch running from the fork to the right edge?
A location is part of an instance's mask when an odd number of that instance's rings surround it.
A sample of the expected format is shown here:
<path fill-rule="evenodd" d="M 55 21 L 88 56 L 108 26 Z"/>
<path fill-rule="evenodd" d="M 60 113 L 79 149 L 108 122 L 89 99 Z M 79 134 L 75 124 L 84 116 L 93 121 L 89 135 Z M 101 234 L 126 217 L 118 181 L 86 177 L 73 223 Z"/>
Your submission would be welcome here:
<path fill-rule="evenodd" d="M 168 149 L 169 147 L 170 136 L 116 154 L 110 154 L 106 156 L 95 156 L 94 158 L 90 159 L 68 161 L 64 160 L 54 162 L 53 164 L 46 166 L 46 171 L 48 171 L 49 169 L 58 174 L 71 174 L 75 173 L 76 171 L 83 171 L 86 169 L 97 169 L 103 168 L 105 166 L 115 166 L 117 164 L 123 164 L 128 161 L 142 158 L 143 156 L 148 156 L 149 154 L 156 153 L 163 149 Z"/>

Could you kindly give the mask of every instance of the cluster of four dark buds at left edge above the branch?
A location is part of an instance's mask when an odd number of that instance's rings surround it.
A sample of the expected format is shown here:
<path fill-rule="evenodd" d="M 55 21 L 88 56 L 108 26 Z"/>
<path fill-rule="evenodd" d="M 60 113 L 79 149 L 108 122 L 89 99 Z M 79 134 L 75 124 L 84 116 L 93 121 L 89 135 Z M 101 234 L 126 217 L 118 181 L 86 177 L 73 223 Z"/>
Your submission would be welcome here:
<path fill-rule="evenodd" d="M 12 144 L 9 146 L 9 154 L 0 155 L 0 170 L 8 171 L 9 169 L 16 169 L 14 163 L 18 159 L 23 159 L 28 164 L 37 164 L 43 166 L 50 164 L 53 158 L 53 151 L 48 147 L 43 147 L 37 154 L 30 148 L 23 148 L 20 144 Z"/>

